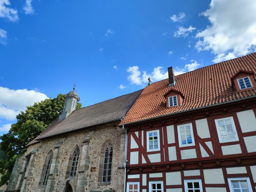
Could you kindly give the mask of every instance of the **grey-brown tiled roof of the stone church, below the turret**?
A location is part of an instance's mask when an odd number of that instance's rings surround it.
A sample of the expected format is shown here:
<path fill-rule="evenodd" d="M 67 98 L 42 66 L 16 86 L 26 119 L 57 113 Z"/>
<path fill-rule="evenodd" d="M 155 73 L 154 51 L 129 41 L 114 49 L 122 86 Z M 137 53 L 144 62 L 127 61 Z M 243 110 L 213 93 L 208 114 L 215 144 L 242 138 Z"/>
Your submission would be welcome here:
<path fill-rule="evenodd" d="M 140 96 L 142 90 L 73 111 L 66 119 L 52 122 L 28 145 L 54 135 L 72 132 L 86 127 L 121 120 Z"/>

